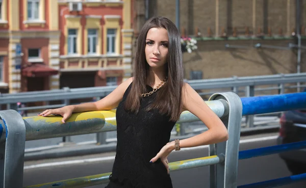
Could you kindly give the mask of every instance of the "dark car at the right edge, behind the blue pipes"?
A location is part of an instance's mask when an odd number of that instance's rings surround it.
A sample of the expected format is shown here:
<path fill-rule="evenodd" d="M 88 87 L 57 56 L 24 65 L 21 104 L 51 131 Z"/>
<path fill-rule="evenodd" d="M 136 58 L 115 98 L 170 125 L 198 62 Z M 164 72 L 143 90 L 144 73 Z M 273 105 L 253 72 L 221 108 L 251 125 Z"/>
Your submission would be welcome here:
<path fill-rule="evenodd" d="M 303 90 L 306 92 L 306 89 Z M 306 109 L 286 111 L 281 120 L 277 144 L 306 141 Z M 279 153 L 292 174 L 306 172 L 306 149 Z"/>

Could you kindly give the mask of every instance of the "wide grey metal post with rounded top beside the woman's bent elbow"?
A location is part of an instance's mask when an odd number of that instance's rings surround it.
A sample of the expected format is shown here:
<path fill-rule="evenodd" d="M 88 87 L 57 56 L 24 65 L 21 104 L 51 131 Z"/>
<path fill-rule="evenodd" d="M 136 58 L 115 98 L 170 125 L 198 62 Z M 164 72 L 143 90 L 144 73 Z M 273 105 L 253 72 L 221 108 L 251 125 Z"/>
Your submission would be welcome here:
<path fill-rule="evenodd" d="M 228 114 L 221 117 L 221 120 L 229 135 L 226 142 L 213 144 L 209 147 L 210 155 L 225 155 L 224 163 L 210 166 L 210 188 L 236 188 L 242 102 L 234 92 L 215 93 L 209 100 L 220 100 L 224 104 L 224 109 L 228 111 Z M 224 103 L 224 101 L 226 102 Z M 226 112 L 224 113 L 226 114 Z M 211 170 L 211 168 L 215 168 L 215 170 Z M 212 176 L 215 177 L 212 178 Z"/>

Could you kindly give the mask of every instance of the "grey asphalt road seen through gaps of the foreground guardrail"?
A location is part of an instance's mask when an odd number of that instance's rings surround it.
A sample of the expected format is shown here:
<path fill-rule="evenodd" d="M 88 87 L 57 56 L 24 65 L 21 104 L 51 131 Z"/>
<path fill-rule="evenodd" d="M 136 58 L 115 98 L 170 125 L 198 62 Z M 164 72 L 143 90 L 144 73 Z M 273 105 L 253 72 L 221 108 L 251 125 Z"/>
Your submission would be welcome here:
<path fill-rule="evenodd" d="M 276 136 L 277 134 L 269 135 L 256 135 L 249 137 L 242 137 L 241 140 L 249 140 L 251 138 L 263 138 L 267 136 Z M 276 139 L 251 141 L 240 144 L 240 150 L 260 148 L 266 146 L 272 146 L 276 144 Z M 71 161 L 75 159 L 87 159 L 98 158 L 101 156 L 113 156 L 115 153 L 103 153 L 97 155 L 82 156 L 81 158 L 65 158 L 54 160 L 42 160 L 35 162 L 25 162 L 24 166 L 37 165 L 49 162 L 59 161 Z M 192 158 L 199 158 L 201 156 L 208 155 L 208 148 L 194 149 L 188 151 L 172 152 L 169 155 L 169 162 L 181 161 Z M 23 185 L 34 185 L 39 183 L 46 183 L 52 181 L 59 181 L 64 179 L 100 174 L 110 172 L 112 169 L 113 160 L 82 163 L 82 164 L 70 164 L 61 166 L 49 166 L 42 168 L 33 168 L 24 170 Z M 209 170 L 208 167 L 199 167 L 194 169 L 188 169 L 183 171 L 170 172 L 173 187 L 209 187 Z M 253 182 L 265 181 L 274 178 L 281 178 L 290 176 L 285 163 L 278 157 L 277 154 L 261 156 L 259 158 L 252 158 L 239 161 L 238 167 L 238 185 L 248 184 Z M 104 185 L 91 186 L 92 188 L 104 187 Z M 306 181 L 294 183 L 286 186 L 280 186 L 282 188 L 298 188 L 306 187 Z"/>

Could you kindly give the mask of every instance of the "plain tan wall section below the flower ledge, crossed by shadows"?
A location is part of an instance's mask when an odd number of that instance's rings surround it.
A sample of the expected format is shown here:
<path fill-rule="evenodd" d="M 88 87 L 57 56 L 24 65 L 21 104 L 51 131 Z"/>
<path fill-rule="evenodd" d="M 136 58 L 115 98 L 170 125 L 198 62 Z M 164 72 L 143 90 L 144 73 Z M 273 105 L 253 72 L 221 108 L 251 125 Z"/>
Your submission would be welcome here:
<path fill-rule="evenodd" d="M 203 79 L 296 72 L 296 50 L 224 47 L 225 44 L 251 47 L 258 42 L 286 47 L 292 41 L 199 41 L 197 51 L 183 54 L 185 78 L 190 78 L 190 71 L 202 71 Z"/>

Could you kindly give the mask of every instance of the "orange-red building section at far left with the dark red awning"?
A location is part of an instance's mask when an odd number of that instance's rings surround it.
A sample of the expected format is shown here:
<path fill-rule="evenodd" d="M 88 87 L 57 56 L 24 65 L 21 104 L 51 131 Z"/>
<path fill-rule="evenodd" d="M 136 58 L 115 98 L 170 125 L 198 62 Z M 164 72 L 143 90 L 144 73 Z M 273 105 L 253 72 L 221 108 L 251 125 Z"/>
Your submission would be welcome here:
<path fill-rule="evenodd" d="M 0 92 L 58 88 L 58 20 L 55 1 L 1 0 Z M 55 64 L 54 62 L 58 62 Z"/>

